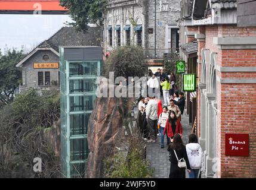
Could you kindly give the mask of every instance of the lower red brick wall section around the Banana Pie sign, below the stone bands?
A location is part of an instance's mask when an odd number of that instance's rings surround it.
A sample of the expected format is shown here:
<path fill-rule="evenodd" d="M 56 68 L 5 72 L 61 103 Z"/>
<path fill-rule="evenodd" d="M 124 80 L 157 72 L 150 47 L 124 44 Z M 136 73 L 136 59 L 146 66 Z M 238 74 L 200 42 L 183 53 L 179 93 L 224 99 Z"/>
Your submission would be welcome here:
<path fill-rule="evenodd" d="M 221 178 L 256 177 L 256 84 L 221 84 L 218 151 Z M 241 96 L 242 94 L 242 96 Z M 244 96 L 243 96 L 244 94 Z M 249 134 L 249 157 L 225 156 L 225 134 Z"/>

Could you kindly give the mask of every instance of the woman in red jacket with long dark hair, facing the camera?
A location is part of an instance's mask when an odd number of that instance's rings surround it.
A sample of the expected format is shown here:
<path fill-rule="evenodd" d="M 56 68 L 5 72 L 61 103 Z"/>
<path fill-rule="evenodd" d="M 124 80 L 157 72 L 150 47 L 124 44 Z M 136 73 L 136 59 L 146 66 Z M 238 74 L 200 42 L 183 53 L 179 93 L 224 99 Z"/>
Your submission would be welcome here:
<path fill-rule="evenodd" d="M 180 121 L 177 119 L 177 116 L 174 111 L 171 111 L 169 113 L 169 118 L 166 121 L 165 129 L 164 129 L 164 135 L 167 133 L 168 137 L 171 140 L 171 143 L 173 141 L 173 137 L 175 134 L 180 134 L 180 136 L 183 133 L 183 129 L 181 126 Z"/>

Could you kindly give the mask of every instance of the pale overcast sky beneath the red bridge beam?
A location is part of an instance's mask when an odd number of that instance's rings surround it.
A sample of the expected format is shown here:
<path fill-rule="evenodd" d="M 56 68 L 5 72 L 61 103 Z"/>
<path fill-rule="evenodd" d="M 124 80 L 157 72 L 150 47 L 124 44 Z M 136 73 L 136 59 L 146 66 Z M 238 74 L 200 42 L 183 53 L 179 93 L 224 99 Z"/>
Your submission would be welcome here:
<path fill-rule="evenodd" d="M 0 49 L 4 53 L 10 48 L 30 51 L 39 43 L 47 40 L 65 22 L 72 20 L 68 15 L 8 15 L 0 14 Z"/>

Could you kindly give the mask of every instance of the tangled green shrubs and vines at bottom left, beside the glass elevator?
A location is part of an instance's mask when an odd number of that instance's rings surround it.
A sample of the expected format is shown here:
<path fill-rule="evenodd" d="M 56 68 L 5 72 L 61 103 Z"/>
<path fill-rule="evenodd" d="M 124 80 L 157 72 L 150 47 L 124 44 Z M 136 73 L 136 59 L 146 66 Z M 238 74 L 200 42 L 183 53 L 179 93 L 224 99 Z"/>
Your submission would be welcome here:
<path fill-rule="evenodd" d="M 53 148 L 42 137 L 59 118 L 60 95 L 55 89 L 44 91 L 42 96 L 36 90 L 29 90 L 0 109 L 0 178 L 22 176 L 21 169 L 13 167 L 15 163 L 29 163 L 27 170 L 32 172 L 35 157 L 43 162 L 38 177 L 51 178 L 58 173 L 60 166 Z M 2 147 L 7 147 L 7 151 Z M 10 156 L 10 153 L 18 156 L 15 162 L 15 155 Z"/>

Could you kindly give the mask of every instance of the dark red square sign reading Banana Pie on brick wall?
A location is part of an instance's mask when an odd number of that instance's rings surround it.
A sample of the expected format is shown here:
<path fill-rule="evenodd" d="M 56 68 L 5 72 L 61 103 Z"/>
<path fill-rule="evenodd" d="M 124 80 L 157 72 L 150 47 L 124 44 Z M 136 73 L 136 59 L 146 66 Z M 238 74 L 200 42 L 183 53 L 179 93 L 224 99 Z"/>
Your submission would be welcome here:
<path fill-rule="evenodd" d="M 225 134 L 226 156 L 249 156 L 249 134 Z"/>

